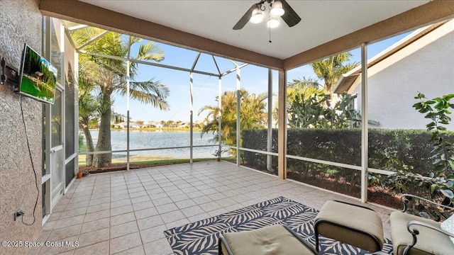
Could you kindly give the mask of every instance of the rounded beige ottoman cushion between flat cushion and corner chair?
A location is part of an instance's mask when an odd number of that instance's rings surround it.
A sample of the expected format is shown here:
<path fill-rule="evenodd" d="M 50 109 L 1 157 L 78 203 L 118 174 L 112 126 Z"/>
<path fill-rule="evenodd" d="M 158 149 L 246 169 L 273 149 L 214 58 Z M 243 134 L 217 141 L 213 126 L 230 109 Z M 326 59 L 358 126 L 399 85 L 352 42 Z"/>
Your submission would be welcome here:
<path fill-rule="evenodd" d="M 328 201 L 315 218 L 315 227 L 323 237 L 360 249 L 380 251 L 383 248 L 382 219 L 367 208 Z"/>

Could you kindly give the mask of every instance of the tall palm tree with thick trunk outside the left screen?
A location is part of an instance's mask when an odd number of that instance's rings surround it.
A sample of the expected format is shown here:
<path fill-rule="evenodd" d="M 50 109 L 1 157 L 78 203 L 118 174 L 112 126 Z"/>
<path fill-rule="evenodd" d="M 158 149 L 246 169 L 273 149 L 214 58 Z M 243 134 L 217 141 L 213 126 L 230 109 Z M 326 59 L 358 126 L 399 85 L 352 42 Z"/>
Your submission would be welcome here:
<path fill-rule="evenodd" d="M 77 45 L 82 45 L 89 42 L 90 38 L 99 32 L 98 28 L 84 28 L 76 30 L 73 38 Z M 126 57 L 131 45 L 140 42 L 139 38 L 131 37 L 128 42 L 125 42 L 124 37 L 118 33 L 109 32 L 101 38 L 89 43 L 84 50 L 87 52 L 100 53 L 102 55 L 111 55 L 117 57 Z M 137 60 L 154 60 L 161 61 L 164 59 L 164 52 L 148 42 L 146 45 L 140 45 L 138 54 L 133 57 Z M 123 60 L 99 57 L 98 55 L 80 55 L 79 64 L 86 74 L 86 79 L 96 86 L 96 98 L 99 100 L 99 137 L 96 143 L 95 152 L 111 151 L 111 106 L 113 103 L 112 94 L 114 92 L 121 96 L 127 93 L 127 77 L 126 62 Z M 148 81 L 135 81 L 138 72 L 138 64 L 132 63 L 130 69 L 130 95 L 142 103 L 150 103 L 154 107 L 161 110 L 168 108 L 165 99 L 169 96 L 167 86 L 150 79 Z M 95 154 L 93 158 L 93 166 L 107 166 L 111 164 L 111 153 Z"/>

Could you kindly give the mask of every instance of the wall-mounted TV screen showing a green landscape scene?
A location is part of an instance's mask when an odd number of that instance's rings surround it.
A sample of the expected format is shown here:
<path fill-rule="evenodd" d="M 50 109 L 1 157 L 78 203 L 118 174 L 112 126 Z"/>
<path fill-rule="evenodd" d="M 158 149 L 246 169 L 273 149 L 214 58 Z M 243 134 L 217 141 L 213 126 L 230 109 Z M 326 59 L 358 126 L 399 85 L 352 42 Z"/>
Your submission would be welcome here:
<path fill-rule="evenodd" d="M 24 47 L 18 93 L 54 103 L 57 69 L 27 44 Z"/>

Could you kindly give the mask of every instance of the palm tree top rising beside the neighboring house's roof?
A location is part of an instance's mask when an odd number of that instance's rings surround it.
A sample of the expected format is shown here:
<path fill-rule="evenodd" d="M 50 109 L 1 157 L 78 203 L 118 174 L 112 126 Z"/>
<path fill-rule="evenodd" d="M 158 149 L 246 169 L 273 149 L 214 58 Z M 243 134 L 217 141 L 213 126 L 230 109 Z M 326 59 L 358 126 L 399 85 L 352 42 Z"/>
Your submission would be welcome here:
<path fill-rule="evenodd" d="M 344 62 L 350 60 L 351 56 L 352 54 L 350 52 L 343 52 L 311 63 L 311 67 L 314 69 L 317 77 L 325 81 L 324 89 L 326 94 L 331 96 L 333 94 L 333 85 L 336 84 L 339 77 L 358 66 L 358 62 L 344 64 Z"/>

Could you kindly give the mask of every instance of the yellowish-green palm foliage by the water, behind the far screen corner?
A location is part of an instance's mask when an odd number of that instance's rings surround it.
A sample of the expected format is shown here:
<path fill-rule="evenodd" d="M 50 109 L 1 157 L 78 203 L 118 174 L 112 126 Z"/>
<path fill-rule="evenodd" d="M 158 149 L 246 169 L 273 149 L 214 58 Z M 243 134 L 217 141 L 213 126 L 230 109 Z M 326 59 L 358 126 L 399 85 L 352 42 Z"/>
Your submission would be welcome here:
<path fill-rule="evenodd" d="M 245 89 L 240 90 L 240 128 L 241 130 L 264 128 L 267 122 L 267 94 L 250 95 Z M 219 98 L 216 96 L 216 101 Z M 221 96 L 221 132 L 222 142 L 225 145 L 236 145 L 236 91 L 226 91 Z M 215 142 L 219 141 L 218 114 L 216 106 L 204 106 L 199 110 L 199 115 L 207 111 L 205 125 L 201 130 L 201 136 L 211 132 Z"/>

